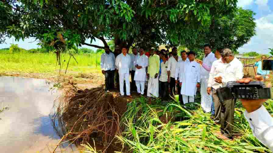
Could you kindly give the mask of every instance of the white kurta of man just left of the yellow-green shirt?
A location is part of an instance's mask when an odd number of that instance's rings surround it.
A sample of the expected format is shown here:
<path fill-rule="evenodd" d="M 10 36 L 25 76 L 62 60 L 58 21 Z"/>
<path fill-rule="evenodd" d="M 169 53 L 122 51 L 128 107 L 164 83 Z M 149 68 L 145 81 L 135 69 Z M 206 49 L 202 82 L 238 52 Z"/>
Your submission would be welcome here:
<path fill-rule="evenodd" d="M 134 77 L 135 81 L 146 81 L 146 67 L 148 66 L 148 60 L 149 58 L 145 54 L 136 57 L 134 65 L 142 66 L 142 68 L 136 69 Z"/>

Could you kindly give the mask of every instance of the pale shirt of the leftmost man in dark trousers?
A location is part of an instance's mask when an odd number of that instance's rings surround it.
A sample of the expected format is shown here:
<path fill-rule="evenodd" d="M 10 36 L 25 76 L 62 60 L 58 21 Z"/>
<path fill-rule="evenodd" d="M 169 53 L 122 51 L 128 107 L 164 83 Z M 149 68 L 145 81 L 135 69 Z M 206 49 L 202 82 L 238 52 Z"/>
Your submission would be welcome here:
<path fill-rule="evenodd" d="M 115 70 L 115 55 L 113 53 L 101 55 L 101 70 Z"/>

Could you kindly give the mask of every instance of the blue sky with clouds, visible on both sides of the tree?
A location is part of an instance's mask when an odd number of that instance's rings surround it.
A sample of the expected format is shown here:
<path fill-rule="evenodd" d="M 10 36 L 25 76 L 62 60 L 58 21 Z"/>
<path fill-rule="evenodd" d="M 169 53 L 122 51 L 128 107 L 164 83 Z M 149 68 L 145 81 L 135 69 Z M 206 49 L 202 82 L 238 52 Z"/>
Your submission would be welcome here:
<path fill-rule="evenodd" d="M 273 0 L 238 0 L 237 5 L 244 9 L 253 10 L 256 13 L 255 22 L 257 24 L 257 35 L 252 37 L 250 42 L 240 47 L 238 51 L 240 53 L 256 51 L 261 54 L 267 54 L 269 52 L 267 48 L 273 48 Z M 37 48 L 38 42 L 33 42 L 34 40 L 34 38 L 30 38 L 25 39 L 25 41 L 20 40 L 19 42 L 16 42 L 10 38 L 6 41 L 7 44 L 0 44 L 0 48 L 8 48 L 12 41 L 21 48 Z M 90 40 L 87 40 L 86 42 L 90 43 Z M 96 42 L 93 42 L 92 44 L 103 46 L 101 40 L 96 40 Z M 97 50 L 97 48 L 86 45 L 83 45 L 82 47 Z"/>

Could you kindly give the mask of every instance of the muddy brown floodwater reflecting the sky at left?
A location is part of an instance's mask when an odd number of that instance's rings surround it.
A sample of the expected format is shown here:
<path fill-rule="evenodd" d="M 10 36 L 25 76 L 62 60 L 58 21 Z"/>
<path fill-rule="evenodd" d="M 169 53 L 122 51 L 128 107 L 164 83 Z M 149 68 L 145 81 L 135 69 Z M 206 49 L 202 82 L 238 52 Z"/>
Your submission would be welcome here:
<path fill-rule="evenodd" d="M 0 109 L 9 108 L 0 113 L 0 152 L 53 151 L 60 137 L 52 126 L 50 114 L 54 113 L 54 100 L 60 93 L 51 91 L 52 86 L 43 79 L 0 77 Z M 63 152 L 78 151 L 73 146 Z"/>

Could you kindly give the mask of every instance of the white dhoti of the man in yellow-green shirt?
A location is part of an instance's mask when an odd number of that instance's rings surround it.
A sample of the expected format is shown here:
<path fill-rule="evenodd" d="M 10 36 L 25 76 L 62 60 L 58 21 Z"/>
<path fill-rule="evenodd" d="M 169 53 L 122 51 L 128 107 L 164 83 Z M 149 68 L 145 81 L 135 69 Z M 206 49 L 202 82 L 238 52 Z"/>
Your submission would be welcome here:
<path fill-rule="evenodd" d="M 148 81 L 148 88 L 147 88 L 147 97 L 158 97 L 159 96 L 159 82 L 158 77 L 154 78 L 150 77 Z"/>

